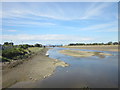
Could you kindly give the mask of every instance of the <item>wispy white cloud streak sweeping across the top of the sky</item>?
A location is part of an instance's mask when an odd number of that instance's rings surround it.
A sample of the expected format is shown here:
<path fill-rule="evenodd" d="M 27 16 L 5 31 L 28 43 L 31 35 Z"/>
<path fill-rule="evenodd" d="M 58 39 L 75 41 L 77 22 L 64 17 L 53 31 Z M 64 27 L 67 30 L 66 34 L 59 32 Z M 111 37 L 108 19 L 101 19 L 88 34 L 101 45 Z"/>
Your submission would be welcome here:
<path fill-rule="evenodd" d="M 98 3 L 93 3 L 87 7 L 79 7 L 79 9 L 70 7 L 68 8 L 67 6 L 62 7 L 59 5 L 52 4 L 51 6 L 49 6 L 49 4 L 40 3 L 40 5 L 28 4 L 28 7 L 25 7 L 24 5 L 20 4 L 21 7 L 18 5 L 17 8 L 10 7 L 10 9 L 4 10 L 3 18 L 51 18 L 57 20 L 91 19 L 94 16 L 100 16 L 101 14 L 103 14 L 104 8 L 106 8 L 110 4 L 101 3 L 98 5 Z"/>

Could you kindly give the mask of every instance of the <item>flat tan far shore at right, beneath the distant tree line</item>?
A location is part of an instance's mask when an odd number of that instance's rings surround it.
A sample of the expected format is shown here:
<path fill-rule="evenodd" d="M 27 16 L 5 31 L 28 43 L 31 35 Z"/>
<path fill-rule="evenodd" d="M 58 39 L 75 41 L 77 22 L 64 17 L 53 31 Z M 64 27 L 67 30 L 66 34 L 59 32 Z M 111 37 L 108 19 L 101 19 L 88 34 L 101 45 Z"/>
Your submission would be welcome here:
<path fill-rule="evenodd" d="M 64 48 L 75 48 L 75 49 L 89 49 L 89 50 L 100 50 L 100 51 L 119 51 L 119 45 L 84 45 L 84 46 L 64 46 Z"/>

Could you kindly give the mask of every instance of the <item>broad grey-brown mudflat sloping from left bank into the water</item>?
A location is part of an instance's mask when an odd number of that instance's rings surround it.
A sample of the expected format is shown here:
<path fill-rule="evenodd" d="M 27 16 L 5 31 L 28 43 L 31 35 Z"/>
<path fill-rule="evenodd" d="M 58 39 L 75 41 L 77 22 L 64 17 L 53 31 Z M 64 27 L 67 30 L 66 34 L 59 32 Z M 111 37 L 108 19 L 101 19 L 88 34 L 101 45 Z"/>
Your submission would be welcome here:
<path fill-rule="evenodd" d="M 48 49 L 38 51 L 28 60 L 11 62 L 3 64 L 2 70 L 2 88 L 8 88 L 18 82 L 35 82 L 42 80 L 53 74 L 57 66 L 68 66 L 67 63 L 45 56 Z M 14 65 L 17 63 L 17 66 Z M 30 87 L 30 86 L 26 86 Z M 19 86 L 18 86 L 19 88 Z"/>

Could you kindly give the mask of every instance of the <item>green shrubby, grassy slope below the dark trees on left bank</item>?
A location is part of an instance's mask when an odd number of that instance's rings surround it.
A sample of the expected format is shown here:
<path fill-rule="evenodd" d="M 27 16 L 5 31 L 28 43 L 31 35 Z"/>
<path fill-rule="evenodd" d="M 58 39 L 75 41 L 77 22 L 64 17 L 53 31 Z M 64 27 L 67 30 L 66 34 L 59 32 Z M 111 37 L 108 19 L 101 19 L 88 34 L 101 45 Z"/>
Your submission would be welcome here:
<path fill-rule="evenodd" d="M 26 59 L 32 54 L 35 54 L 42 50 L 43 48 L 40 47 L 30 47 L 30 48 L 23 48 L 23 47 L 13 47 L 2 50 L 2 56 L 0 57 L 2 62 L 11 62 L 13 60 L 20 60 Z"/>

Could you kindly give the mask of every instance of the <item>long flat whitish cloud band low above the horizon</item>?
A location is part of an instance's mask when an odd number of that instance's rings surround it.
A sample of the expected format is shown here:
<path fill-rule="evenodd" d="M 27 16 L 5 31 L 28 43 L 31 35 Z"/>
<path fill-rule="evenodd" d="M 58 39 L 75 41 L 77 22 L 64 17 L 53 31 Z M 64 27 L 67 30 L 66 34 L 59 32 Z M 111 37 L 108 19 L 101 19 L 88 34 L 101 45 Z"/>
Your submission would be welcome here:
<path fill-rule="evenodd" d="M 74 35 L 60 35 L 60 34 L 45 34 L 45 35 L 29 35 L 29 34 L 18 34 L 18 35 L 2 35 L 2 40 L 3 41 L 39 41 L 39 40 L 45 40 L 45 41 L 50 41 L 50 40 L 65 40 L 65 41 L 89 41 L 93 40 L 93 38 L 88 38 L 88 37 L 79 37 L 79 36 L 74 36 Z"/>

